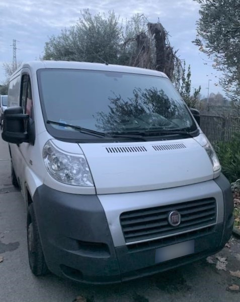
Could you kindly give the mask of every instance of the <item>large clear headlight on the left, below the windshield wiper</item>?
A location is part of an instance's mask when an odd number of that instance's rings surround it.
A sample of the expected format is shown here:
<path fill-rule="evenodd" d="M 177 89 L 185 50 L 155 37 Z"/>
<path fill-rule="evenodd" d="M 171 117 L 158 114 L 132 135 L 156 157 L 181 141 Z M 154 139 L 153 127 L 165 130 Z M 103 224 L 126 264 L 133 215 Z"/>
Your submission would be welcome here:
<path fill-rule="evenodd" d="M 73 186 L 94 186 L 84 155 L 65 153 L 49 140 L 43 147 L 43 160 L 48 173 L 58 182 Z"/>

